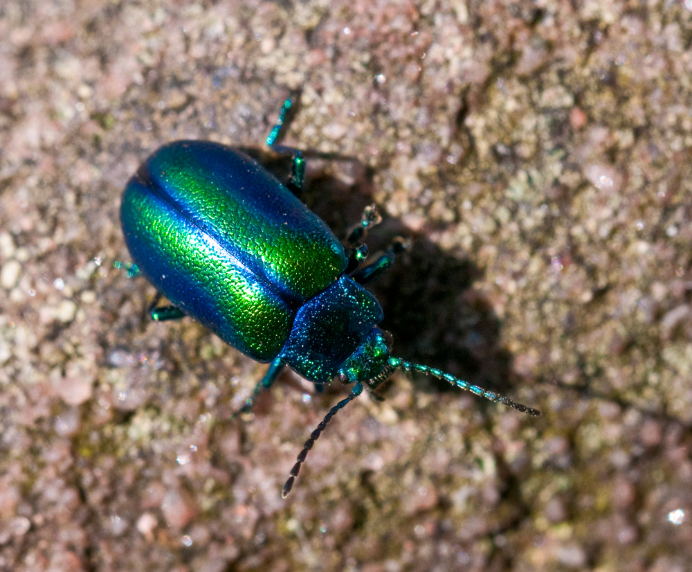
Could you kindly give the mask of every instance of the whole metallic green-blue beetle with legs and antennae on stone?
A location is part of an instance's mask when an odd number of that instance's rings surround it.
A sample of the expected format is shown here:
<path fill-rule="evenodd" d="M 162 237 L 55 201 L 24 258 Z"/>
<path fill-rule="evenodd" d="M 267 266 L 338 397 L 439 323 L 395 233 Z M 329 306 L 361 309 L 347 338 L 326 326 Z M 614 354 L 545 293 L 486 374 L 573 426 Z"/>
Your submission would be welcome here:
<path fill-rule="evenodd" d="M 271 364 L 241 411 L 288 366 L 317 388 L 352 384 L 305 442 L 282 490 L 285 498 L 332 417 L 363 387 L 376 397 L 395 370 L 417 371 L 529 415 L 507 397 L 391 354 L 379 302 L 364 285 L 401 251 L 395 243 L 365 263 L 363 238 L 380 220 L 366 208 L 345 244 L 296 195 L 302 152 L 277 144 L 293 102 L 284 102 L 266 144 L 291 155 L 286 184 L 237 148 L 174 141 L 156 150 L 122 195 L 120 222 L 134 274 L 157 289 L 154 320 L 191 316 L 245 355 Z M 165 296 L 171 305 L 159 306 Z"/>

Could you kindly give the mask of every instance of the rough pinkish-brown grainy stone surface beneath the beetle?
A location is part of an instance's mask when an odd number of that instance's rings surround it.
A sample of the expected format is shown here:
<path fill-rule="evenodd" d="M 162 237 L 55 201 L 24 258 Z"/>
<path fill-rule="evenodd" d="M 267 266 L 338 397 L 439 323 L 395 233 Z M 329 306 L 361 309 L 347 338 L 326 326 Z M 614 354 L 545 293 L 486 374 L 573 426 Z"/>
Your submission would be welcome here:
<path fill-rule="evenodd" d="M 692 2 L 0 2 L 0 571 L 684 571 Z M 176 138 L 313 157 L 430 379 L 347 388 L 151 323 L 120 193 Z M 315 155 L 316 153 L 313 153 Z M 353 160 L 356 159 L 356 160 Z M 372 249 L 371 249 L 372 251 Z"/>

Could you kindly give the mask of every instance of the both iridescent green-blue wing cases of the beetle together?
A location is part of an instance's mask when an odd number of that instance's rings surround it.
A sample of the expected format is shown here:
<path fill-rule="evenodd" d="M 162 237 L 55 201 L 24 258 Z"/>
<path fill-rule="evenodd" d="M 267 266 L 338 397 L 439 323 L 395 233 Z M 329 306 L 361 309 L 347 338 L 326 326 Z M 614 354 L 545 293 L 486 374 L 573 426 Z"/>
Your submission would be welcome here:
<path fill-rule="evenodd" d="M 210 141 L 157 150 L 129 181 L 120 218 L 149 282 L 257 361 L 279 354 L 298 309 L 347 265 L 334 233 L 280 181 Z"/>

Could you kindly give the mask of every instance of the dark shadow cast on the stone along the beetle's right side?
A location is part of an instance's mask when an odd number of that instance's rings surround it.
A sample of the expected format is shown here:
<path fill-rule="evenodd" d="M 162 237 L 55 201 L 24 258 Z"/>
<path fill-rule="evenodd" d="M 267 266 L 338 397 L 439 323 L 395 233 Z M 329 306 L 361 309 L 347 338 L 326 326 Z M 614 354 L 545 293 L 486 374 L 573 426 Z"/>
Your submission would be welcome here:
<path fill-rule="evenodd" d="M 308 161 L 300 197 L 340 238 L 374 202 L 373 173 L 359 161 L 345 159 L 337 162 L 336 169 L 334 163 L 320 168 L 320 161 Z M 290 158 L 262 163 L 282 180 L 291 166 Z M 511 393 L 513 359 L 500 341 L 500 319 L 491 303 L 471 289 L 483 279 L 482 270 L 464 253 L 444 252 L 424 232 L 412 232 L 401 220 L 386 215 L 365 240 L 370 260 L 397 237 L 408 240 L 410 247 L 367 286 L 383 307 L 381 327 L 392 333 L 392 353 L 491 391 Z M 458 391 L 423 375 L 412 376 L 412 382 L 418 391 Z"/>

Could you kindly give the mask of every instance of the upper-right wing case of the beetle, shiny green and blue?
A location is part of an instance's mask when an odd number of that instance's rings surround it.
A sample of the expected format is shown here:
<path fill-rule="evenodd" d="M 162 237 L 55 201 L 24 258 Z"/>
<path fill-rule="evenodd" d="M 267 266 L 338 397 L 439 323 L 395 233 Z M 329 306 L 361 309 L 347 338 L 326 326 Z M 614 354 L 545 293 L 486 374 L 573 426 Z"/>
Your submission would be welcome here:
<path fill-rule="evenodd" d="M 346 267 L 329 227 L 275 177 L 241 152 L 209 141 L 165 145 L 148 163 L 150 184 L 181 213 L 284 294 L 304 301 Z"/>

